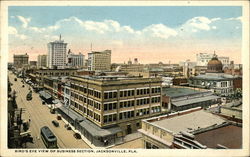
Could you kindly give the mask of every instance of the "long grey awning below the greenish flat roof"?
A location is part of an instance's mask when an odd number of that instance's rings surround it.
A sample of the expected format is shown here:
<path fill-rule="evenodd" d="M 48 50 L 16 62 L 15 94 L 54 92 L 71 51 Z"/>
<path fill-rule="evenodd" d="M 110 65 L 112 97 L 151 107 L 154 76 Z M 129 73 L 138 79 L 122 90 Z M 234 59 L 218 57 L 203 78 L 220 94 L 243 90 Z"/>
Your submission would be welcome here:
<path fill-rule="evenodd" d="M 181 100 L 181 101 L 173 101 L 172 104 L 174 106 L 179 107 L 179 106 L 185 106 L 185 105 L 189 105 L 189 104 L 214 100 L 214 99 L 218 99 L 218 98 L 220 98 L 220 97 L 218 97 L 216 95 L 209 95 L 209 96 L 204 96 L 204 97 L 199 97 L 199 98 L 190 98 L 190 99 L 185 99 L 185 100 Z"/>

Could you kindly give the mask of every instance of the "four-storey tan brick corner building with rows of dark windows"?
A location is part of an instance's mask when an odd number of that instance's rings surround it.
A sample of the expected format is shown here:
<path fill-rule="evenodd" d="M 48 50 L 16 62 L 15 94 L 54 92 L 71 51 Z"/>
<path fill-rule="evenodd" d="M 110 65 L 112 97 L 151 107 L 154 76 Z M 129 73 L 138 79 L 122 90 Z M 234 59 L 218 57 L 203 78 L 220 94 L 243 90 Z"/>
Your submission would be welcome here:
<path fill-rule="evenodd" d="M 70 82 L 71 108 L 101 128 L 118 125 L 122 136 L 161 113 L 160 78 L 74 76 Z"/>

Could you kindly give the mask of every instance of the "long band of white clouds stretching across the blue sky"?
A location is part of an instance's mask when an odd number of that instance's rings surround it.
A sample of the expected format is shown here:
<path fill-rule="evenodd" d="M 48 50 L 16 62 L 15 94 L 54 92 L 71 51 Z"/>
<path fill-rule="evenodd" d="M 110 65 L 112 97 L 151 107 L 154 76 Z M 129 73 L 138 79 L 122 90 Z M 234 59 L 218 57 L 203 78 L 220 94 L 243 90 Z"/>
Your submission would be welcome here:
<path fill-rule="evenodd" d="M 233 34 L 229 33 L 232 32 L 229 27 L 240 30 L 239 19 L 240 17 L 222 19 L 220 17 L 198 16 L 187 20 L 176 28 L 157 23 L 136 30 L 132 26 L 122 25 L 118 21 L 111 19 L 92 21 L 81 20 L 75 16 L 58 20 L 50 26 L 37 27 L 30 24 L 31 18 L 19 16 L 19 20 L 23 21 L 22 29 L 10 28 L 9 31 L 13 34 L 19 30 L 19 39 L 29 37 L 30 42 L 33 42 L 33 39 L 37 43 L 44 42 L 46 44 L 46 42 L 58 40 L 59 34 L 62 34 L 65 41 L 73 45 L 93 42 L 102 46 L 134 46 L 138 48 L 145 45 L 161 45 L 164 43 L 167 45 L 189 39 L 212 39 L 215 37 L 228 37 L 229 35 L 239 37 L 237 36 L 239 31 L 234 31 Z M 171 40 L 169 40 L 170 38 Z"/>

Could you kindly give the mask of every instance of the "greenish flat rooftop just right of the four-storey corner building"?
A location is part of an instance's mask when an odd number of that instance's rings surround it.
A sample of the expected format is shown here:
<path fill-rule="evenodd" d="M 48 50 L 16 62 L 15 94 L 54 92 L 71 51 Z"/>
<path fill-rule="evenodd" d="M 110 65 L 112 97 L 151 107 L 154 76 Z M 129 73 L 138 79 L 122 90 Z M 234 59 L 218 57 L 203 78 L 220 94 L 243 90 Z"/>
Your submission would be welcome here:
<path fill-rule="evenodd" d="M 200 93 L 200 91 L 189 88 L 162 88 L 162 93 L 170 97 L 178 97 L 182 95 Z"/>

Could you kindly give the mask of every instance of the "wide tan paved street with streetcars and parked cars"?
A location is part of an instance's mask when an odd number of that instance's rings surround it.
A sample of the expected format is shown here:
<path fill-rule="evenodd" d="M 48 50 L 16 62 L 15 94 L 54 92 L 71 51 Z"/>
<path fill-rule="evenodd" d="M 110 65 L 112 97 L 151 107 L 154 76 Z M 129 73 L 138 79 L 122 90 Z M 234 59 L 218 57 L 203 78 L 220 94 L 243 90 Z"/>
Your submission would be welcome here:
<path fill-rule="evenodd" d="M 51 121 L 56 120 L 56 114 L 51 114 L 46 105 L 42 105 L 42 101 L 38 93 L 32 92 L 32 100 L 27 101 L 26 95 L 29 92 L 29 85 L 25 84 L 25 87 L 22 87 L 22 79 L 17 78 L 17 81 L 14 81 L 16 76 L 9 72 L 10 82 L 13 83 L 11 86 L 12 90 L 17 92 L 16 102 L 18 108 L 25 108 L 25 112 L 22 115 L 23 119 L 30 123 L 31 135 L 34 138 L 34 144 L 28 144 L 28 148 L 45 148 L 43 141 L 40 138 L 40 128 L 43 126 L 48 126 L 52 132 L 57 137 L 57 143 L 59 148 L 90 148 L 83 140 L 77 140 L 74 138 L 73 131 L 66 130 L 64 128 L 64 122 L 62 120 L 58 121 L 60 127 L 56 128 Z"/>

